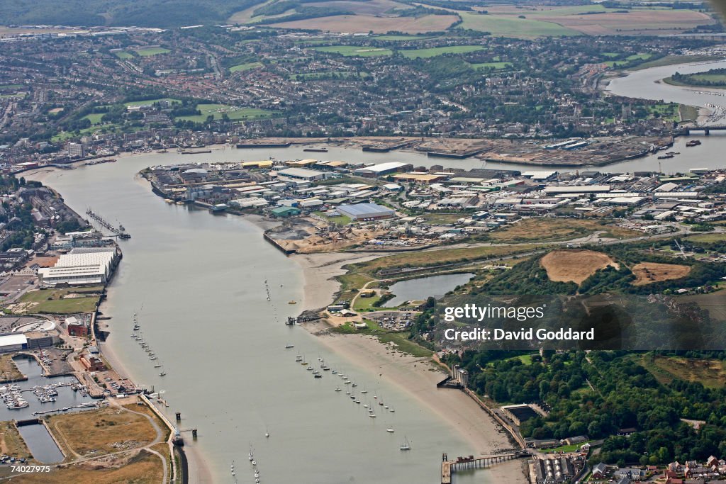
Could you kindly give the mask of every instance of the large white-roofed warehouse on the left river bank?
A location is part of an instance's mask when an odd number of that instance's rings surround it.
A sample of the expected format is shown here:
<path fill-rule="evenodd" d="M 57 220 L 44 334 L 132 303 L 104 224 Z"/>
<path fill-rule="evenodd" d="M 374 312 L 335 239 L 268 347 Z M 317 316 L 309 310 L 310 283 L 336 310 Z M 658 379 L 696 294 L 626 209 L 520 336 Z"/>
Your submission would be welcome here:
<path fill-rule="evenodd" d="M 105 284 L 118 263 L 115 247 L 77 247 L 61 255 L 53 267 L 38 269 L 44 286 Z"/>

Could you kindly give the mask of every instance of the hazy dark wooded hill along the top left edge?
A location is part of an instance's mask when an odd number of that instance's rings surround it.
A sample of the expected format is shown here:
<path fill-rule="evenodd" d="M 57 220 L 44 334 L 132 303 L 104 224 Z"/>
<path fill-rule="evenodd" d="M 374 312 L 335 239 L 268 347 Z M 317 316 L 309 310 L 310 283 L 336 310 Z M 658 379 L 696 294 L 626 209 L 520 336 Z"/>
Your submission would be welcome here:
<path fill-rule="evenodd" d="M 226 22 L 265 0 L 0 0 L 0 24 L 137 25 L 170 28 Z"/>

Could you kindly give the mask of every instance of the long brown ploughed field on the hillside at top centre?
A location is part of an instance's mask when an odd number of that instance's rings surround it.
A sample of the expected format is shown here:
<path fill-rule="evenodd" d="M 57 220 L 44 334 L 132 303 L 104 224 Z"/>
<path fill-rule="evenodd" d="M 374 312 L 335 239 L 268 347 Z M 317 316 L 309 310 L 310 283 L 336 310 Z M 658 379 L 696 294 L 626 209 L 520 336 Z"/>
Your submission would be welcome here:
<path fill-rule="evenodd" d="M 374 17 L 372 15 L 335 15 L 295 22 L 272 24 L 279 28 L 304 28 L 327 32 L 386 33 L 397 30 L 405 33 L 425 33 L 446 30 L 459 20 L 456 15 L 424 15 L 423 17 Z"/>

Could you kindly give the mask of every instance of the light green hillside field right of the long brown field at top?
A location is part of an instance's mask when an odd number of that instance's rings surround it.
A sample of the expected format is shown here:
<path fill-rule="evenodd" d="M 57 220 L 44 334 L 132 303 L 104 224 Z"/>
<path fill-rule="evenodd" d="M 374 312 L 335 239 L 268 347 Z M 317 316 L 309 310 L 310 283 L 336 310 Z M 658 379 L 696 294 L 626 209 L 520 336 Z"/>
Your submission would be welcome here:
<path fill-rule="evenodd" d="M 460 13 L 463 21 L 460 28 L 489 32 L 497 37 L 535 38 L 579 36 L 576 30 L 565 28 L 554 22 L 504 17 L 502 15 L 481 15 L 469 12 Z"/>

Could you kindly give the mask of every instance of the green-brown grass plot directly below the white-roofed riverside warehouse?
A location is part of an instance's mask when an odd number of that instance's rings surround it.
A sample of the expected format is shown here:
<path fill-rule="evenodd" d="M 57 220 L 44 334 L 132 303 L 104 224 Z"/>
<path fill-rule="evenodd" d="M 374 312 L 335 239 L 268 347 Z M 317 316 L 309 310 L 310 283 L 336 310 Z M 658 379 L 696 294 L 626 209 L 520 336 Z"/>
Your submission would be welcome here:
<path fill-rule="evenodd" d="M 16 313 L 76 314 L 94 311 L 99 300 L 98 292 L 103 288 L 84 287 L 77 289 L 41 289 L 26 292 L 13 309 Z M 78 295 L 78 297 L 68 297 Z"/>

